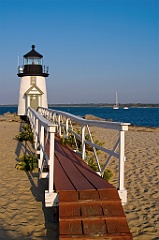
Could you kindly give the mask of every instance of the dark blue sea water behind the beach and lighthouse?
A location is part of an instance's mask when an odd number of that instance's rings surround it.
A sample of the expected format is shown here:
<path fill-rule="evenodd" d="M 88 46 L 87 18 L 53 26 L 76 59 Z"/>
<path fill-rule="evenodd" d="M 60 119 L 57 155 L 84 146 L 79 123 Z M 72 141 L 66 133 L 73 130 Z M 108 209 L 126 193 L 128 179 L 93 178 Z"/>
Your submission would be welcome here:
<path fill-rule="evenodd" d="M 136 126 L 159 127 L 159 108 L 122 108 L 114 110 L 110 107 L 50 107 L 60 111 L 84 117 L 86 114 L 95 115 L 105 120 L 125 122 Z M 10 112 L 17 113 L 17 106 L 0 106 L 0 115 Z"/>

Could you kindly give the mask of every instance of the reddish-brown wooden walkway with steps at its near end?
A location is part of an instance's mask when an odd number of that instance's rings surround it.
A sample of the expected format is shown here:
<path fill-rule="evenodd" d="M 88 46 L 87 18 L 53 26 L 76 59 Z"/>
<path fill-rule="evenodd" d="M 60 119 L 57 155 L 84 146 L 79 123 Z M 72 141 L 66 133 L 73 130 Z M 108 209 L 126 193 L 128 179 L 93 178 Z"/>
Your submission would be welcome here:
<path fill-rule="evenodd" d="M 54 168 L 60 240 L 132 239 L 116 188 L 57 137 Z"/>

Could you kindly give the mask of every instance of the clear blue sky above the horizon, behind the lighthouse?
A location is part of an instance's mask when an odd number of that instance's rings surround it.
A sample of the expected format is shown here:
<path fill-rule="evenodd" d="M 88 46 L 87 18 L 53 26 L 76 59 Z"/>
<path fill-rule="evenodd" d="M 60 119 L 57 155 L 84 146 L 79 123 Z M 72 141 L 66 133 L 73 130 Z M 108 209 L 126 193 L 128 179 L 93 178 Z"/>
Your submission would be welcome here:
<path fill-rule="evenodd" d="M 0 0 L 0 104 L 35 44 L 49 103 L 159 102 L 158 0 Z"/>

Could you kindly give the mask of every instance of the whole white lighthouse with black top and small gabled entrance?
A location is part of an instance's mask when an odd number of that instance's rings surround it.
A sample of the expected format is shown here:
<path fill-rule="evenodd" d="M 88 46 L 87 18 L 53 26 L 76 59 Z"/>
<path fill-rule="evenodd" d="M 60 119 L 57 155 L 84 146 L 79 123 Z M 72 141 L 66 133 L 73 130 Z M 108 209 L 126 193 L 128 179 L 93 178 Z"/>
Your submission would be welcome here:
<path fill-rule="evenodd" d="M 43 56 L 32 50 L 23 56 L 23 66 L 18 66 L 20 80 L 18 115 L 26 116 L 27 107 L 35 110 L 37 107 L 48 108 L 46 77 L 48 67 L 43 66 Z"/>

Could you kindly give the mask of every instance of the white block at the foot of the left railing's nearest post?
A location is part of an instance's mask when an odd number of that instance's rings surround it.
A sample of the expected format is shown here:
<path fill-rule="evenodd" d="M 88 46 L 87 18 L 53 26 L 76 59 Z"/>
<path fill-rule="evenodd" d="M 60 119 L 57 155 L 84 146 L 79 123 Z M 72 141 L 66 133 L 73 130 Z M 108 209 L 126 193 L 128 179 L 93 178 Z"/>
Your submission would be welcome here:
<path fill-rule="evenodd" d="M 55 192 L 49 193 L 48 190 L 45 190 L 45 207 L 55 207 L 58 205 L 58 194 Z"/>

